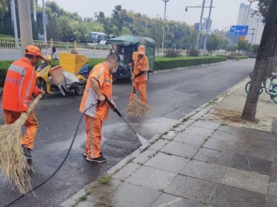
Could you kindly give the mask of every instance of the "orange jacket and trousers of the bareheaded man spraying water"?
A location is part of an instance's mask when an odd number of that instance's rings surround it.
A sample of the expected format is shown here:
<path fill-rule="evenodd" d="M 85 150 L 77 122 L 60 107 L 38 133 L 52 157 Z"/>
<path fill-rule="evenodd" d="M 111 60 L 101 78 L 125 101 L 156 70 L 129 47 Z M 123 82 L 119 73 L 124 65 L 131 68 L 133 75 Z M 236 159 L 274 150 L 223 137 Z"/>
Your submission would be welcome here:
<path fill-rule="evenodd" d="M 99 82 L 100 91 L 107 98 L 111 98 L 112 93 L 112 78 L 107 66 L 104 63 L 97 64 L 89 73 L 89 78 L 82 96 L 80 111 L 98 100 L 95 91 L 91 88 L 91 78 L 95 78 Z M 107 120 L 109 114 L 109 104 L 105 102 L 103 105 L 95 105 L 86 111 L 84 114 L 87 131 L 87 144 L 85 153 L 88 158 L 95 159 L 100 156 L 100 143 L 102 140 L 102 123 Z"/>

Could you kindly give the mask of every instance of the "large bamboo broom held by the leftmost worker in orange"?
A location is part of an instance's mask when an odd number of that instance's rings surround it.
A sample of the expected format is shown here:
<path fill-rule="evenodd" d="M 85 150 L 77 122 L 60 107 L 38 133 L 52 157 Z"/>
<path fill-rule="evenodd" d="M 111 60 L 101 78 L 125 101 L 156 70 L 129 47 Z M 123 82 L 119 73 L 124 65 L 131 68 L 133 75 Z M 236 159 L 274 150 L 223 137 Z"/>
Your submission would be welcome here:
<path fill-rule="evenodd" d="M 35 98 L 28 111 L 22 113 L 15 123 L 0 126 L 0 170 L 8 179 L 8 183 L 11 186 L 15 185 L 23 194 L 31 189 L 28 171 L 32 168 L 28 165 L 21 148 L 21 130 L 30 111 L 37 105 L 40 98 L 42 94 Z"/>

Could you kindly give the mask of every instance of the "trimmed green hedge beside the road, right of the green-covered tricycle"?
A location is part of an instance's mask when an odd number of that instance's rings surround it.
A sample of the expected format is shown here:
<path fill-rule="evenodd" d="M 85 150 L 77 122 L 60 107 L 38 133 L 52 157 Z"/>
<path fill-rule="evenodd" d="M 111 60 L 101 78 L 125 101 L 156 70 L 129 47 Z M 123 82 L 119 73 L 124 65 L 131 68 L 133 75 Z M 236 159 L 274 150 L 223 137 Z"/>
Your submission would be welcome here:
<path fill-rule="evenodd" d="M 157 58 L 155 61 L 155 70 L 175 69 L 186 66 L 198 66 L 201 64 L 211 64 L 216 62 L 225 62 L 226 57 L 178 57 L 178 58 Z"/>

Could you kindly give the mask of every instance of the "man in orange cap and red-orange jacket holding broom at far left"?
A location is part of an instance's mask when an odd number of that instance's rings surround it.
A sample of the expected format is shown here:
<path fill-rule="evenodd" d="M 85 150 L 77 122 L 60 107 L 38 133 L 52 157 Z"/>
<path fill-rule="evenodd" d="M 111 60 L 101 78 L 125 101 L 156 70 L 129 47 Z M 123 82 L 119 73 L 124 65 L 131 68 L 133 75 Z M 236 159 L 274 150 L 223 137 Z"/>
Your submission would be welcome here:
<path fill-rule="evenodd" d="M 28 111 L 32 100 L 31 96 L 38 96 L 45 91 L 36 87 L 37 73 L 34 66 L 39 60 L 45 60 L 42 52 L 37 46 L 29 45 L 26 48 L 25 57 L 12 62 L 10 65 L 3 88 L 2 109 L 5 116 L 6 125 L 10 125 L 17 120 L 21 113 Z M 26 122 L 26 133 L 21 145 L 25 156 L 31 157 L 30 150 L 33 150 L 35 135 L 39 123 L 35 111 L 31 111 Z"/>

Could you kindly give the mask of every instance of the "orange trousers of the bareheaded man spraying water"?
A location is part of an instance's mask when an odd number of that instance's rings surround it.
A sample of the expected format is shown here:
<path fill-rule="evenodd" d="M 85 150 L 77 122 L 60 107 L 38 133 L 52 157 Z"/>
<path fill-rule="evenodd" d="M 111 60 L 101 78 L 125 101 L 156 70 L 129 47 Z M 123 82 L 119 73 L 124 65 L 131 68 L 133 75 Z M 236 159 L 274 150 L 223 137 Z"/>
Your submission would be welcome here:
<path fill-rule="evenodd" d="M 102 140 L 102 120 L 84 115 L 87 131 L 87 144 L 85 153 L 89 158 L 100 156 L 100 144 Z"/>

